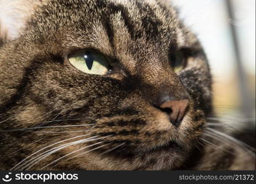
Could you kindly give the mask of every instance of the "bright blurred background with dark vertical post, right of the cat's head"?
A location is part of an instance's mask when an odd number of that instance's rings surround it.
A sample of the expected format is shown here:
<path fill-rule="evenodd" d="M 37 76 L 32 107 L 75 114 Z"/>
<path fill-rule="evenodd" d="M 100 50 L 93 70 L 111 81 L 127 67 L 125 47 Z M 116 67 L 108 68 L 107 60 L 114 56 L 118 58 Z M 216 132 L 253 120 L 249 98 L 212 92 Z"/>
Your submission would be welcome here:
<path fill-rule="evenodd" d="M 172 2 L 208 56 L 215 112 L 255 126 L 255 0 Z"/>

